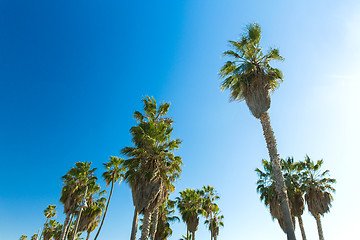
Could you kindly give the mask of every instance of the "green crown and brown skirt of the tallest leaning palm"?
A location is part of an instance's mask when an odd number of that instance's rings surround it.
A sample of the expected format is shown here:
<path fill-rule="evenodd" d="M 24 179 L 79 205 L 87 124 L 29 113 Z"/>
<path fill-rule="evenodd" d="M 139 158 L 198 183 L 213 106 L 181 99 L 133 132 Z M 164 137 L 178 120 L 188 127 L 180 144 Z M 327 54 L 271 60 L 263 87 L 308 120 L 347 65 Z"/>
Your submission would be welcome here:
<path fill-rule="evenodd" d="M 261 28 L 257 23 L 247 25 L 239 41 L 229 41 L 232 50 L 224 52 L 227 61 L 220 69 L 224 79 L 221 89 L 230 89 L 231 101 L 245 100 L 251 113 L 259 118 L 270 108 L 270 90 L 283 81 L 282 72 L 270 66 L 272 60 L 283 60 L 278 49 L 263 54 L 260 47 Z"/>

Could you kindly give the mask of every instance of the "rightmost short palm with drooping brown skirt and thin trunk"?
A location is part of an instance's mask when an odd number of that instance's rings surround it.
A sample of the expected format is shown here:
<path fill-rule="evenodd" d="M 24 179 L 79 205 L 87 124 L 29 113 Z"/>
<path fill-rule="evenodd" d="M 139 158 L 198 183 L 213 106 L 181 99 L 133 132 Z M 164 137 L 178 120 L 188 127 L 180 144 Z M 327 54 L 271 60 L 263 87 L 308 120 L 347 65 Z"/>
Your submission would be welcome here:
<path fill-rule="evenodd" d="M 324 240 L 320 216 L 324 216 L 325 213 L 330 211 L 331 201 L 333 200 L 331 192 L 335 192 L 331 184 L 336 183 L 335 179 L 326 177 L 329 170 L 323 172 L 320 170 L 323 162 L 323 160 L 318 160 L 315 163 L 309 156 L 306 156 L 305 161 L 300 163 L 304 169 L 301 181 L 306 192 L 305 201 L 309 212 L 316 219 L 320 240 Z"/>

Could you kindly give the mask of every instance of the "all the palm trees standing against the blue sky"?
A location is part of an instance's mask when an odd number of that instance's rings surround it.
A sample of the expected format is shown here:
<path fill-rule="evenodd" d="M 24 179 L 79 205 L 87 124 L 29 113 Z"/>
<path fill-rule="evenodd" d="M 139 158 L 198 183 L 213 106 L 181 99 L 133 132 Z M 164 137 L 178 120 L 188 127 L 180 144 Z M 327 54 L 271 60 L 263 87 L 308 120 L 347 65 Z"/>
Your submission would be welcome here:
<path fill-rule="evenodd" d="M 230 60 L 219 72 L 223 79 L 221 89 L 230 90 L 231 101 L 245 100 L 251 114 L 261 122 L 270 162 L 263 161 L 265 172 L 257 169 L 260 176 L 258 191 L 261 199 L 270 207 L 272 216 L 278 219 L 288 239 L 295 240 L 295 217 L 299 219 L 299 223 L 302 222 L 303 207 L 300 205 L 305 194 L 308 209 L 316 218 L 320 239 L 323 239 L 319 216 L 329 211 L 331 194 L 327 190 L 333 190 L 330 183 L 335 180 L 328 178 L 327 185 L 317 185 L 316 171 L 321 166 L 321 161 L 313 163 L 305 160 L 295 164 L 289 159 L 280 159 L 267 111 L 270 108 L 271 91 L 283 81 L 282 72 L 270 66 L 270 62 L 281 61 L 283 58 L 278 49 L 263 53 L 260 40 L 261 28 L 257 23 L 252 23 L 247 26 L 239 41 L 229 41 L 231 50 L 225 51 L 224 56 Z M 96 240 L 104 223 L 114 183 L 123 179 L 130 185 L 135 207 L 130 240 L 136 239 L 139 214 L 143 215 L 141 240 L 166 239 L 171 235 L 168 223 L 176 219 L 172 216 L 175 205 L 187 225 L 184 238 L 195 239 L 199 216 L 203 215 L 209 226 L 211 239 L 217 239 L 219 226 L 223 225 L 223 216 L 214 203 L 217 195 L 211 187 L 186 189 L 180 192 L 176 204 L 169 200 L 170 193 L 175 190 L 174 182 L 181 174 L 182 159 L 174 154 L 180 147 L 181 140 L 171 138 L 173 120 L 166 116 L 169 103 L 158 105 L 154 98 L 148 96 L 143 99 L 143 103 L 143 112 L 134 113 L 137 124 L 130 129 L 133 145 L 121 150 L 126 159 L 111 157 L 104 164 L 107 171 L 103 173 L 103 177 L 106 185 L 111 185 L 108 199 L 103 197 L 106 191 L 101 191 L 94 175 L 96 169 L 91 169 L 91 163 L 76 163 L 62 177 L 60 201 L 66 215 L 64 224 L 50 220 L 45 224 L 43 237 L 49 233 L 48 239 L 76 239 L 86 231 L 89 239 L 91 232 L 100 224 L 94 238 Z M 303 229 L 302 225 L 301 228 Z"/>

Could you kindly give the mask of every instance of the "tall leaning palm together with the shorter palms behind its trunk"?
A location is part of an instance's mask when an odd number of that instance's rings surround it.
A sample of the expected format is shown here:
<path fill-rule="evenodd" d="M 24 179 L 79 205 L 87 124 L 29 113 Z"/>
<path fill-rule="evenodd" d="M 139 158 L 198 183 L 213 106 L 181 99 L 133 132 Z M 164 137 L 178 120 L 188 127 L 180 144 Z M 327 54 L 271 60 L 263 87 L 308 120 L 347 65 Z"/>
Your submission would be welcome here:
<path fill-rule="evenodd" d="M 282 170 L 281 165 L 284 161 L 280 160 L 277 152 L 276 139 L 267 112 L 271 103 L 271 91 L 276 90 L 283 81 L 282 72 L 270 66 L 270 62 L 272 60 L 282 61 L 284 58 L 280 56 L 279 50 L 274 48 L 271 48 L 267 53 L 263 53 L 260 40 L 261 27 L 257 23 L 252 23 L 247 25 L 246 31 L 240 40 L 229 41 L 231 49 L 225 51 L 224 56 L 230 58 L 230 60 L 223 65 L 219 72 L 220 78 L 224 79 L 221 89 L 230 90 L 231 101 L 245 100 L 252 115 L 261 122 L 270 157 L 270 162 L 265 161 L 263 164 L 266 173 L 269 174 L 271 171 L 272 181 L 271 188 L 263 188 L 261 187 L 261 181 L 263 179 L 260 178 L 258 190 L 261 192 L 261 199 L 264 200 L 266 205 L 270 205 L 272 216 L 279 220 L 281 227 L 287 234 L 288 240 L 295 240 L 294 216 L 297 216 L 299 222 L 301 222 L 303 210 L 301 211 L 301 208 L 291 206 L 300 204 L 300 193 L 298 193 L 297 190 L 294 193 L 290 187 L 294 187 L 295 185 L 289 185 L 288 183 L 289 175 L 291 175 L 290 173 L 292 173 L 293 170 L 287 169 L 286 166 L 283 166 L 284 170 Z M 299 171 L 304 175 L 301 186 L 307 189 L 305 199 L 308 204 L 308 209 L 317 220 L 319 237 L 320 240 L 323 240 L 319 215 L 329 210 L 331 201 L 330 193 L 324 192 L 324 190 L 333 189 L 329 184 L 319 188 L 316 187 L 316 180 L 314 180 L 316 178 L 314 175 L 311 175 L 314 173 L 310 173 L 312 171 L 311 166 L 319 167 L 321 163 L 321 161 L 316 164 L 310 160 L 305 161 L 302 163 L 304 166 L 303 169 Z M 259 170 L 259 174 L 260 173 L 262 172 Z M 284 176 L 286 177 L 285 179 Z M 330 183 L 335 182 L 334 179 L 328 180 Z M 267 194 L 273 196 L 273 198 L 271 198 L 272 201 L 265 197 Z M 319 199 L 321 199 L 321 201 Z M 304 238 L 304 231 L 302 231 L 302 235 Z"/>

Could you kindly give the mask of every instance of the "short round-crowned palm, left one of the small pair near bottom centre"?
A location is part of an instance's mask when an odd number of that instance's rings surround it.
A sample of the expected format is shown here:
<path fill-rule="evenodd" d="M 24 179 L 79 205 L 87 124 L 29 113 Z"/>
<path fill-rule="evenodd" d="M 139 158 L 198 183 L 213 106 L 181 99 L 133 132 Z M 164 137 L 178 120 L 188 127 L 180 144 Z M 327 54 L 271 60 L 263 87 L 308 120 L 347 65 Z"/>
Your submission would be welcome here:
<path fill-rule="evenodd" d="M 187 188 L 180 192 L 180 197 L 176 197 L 176 201 L 181 218 L 187 226 L 186 236 L 189 238 L 190 232 L 192 240 L 195 240 L 195 232 L 199 226 L 199 215 L 206 215 L 205 210 L 202 208 L 203 199 L 200 192 Z"/>

